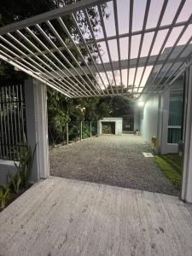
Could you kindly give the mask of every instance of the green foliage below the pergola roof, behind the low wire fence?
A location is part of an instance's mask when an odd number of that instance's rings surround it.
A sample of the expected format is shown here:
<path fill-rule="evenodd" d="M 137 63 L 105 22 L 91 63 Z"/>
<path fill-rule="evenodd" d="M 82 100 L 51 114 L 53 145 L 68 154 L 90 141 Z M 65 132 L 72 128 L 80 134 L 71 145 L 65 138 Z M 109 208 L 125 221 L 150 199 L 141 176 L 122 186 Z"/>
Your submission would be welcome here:
<path fill-rule="evenodd" d="M 67 122 L 123 117 L 133 111 L 132 102 L 126 96 L 69 99 L 54 90 L 49 90 L 48 105 L 49 143 L 54 144 L 62 143 L 66 139 Z"/>

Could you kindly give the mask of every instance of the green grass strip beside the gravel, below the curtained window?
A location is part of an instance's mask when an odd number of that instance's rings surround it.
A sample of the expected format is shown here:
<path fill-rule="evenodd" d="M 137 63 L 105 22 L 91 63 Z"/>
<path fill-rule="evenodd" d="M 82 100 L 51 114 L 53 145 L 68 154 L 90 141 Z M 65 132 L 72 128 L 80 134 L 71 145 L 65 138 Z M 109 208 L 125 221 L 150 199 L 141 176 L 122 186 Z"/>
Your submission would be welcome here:
<path fill-rule="evenodd" d="M 154 155 L 154 161 L 160 167 L 170 182 L 177 188 L 181 188 L 182 158 L 178 154 Z"/>

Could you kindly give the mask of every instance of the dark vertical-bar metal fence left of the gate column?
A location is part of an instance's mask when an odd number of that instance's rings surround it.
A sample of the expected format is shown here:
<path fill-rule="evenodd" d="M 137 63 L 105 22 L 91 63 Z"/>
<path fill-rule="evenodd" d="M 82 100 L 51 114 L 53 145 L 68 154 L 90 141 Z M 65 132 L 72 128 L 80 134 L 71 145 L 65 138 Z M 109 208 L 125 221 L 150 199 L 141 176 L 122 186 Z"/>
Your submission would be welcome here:
<path fill-rule="evenodd" d="M 26 147 L 26 111 L 23 84 L 0 87 L 0 158 L 19 160 Z"/>

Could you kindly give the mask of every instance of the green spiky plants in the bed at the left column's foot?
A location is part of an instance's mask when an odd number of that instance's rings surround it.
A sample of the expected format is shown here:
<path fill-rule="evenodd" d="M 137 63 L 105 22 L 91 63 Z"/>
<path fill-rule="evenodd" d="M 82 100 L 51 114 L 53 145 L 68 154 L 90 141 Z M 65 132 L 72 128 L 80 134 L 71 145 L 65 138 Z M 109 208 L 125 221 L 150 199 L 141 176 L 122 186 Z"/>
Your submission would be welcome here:
<path fill-rule="evenodd" d="M 0 212 L 31 187 L 28 177 L 32 169 L 34 152 L 32 154 L 31 148 L 26 146 L 20 153 L 19 164 L 15 163 L 17 172 L 9 172 L 7 183 L 0 186 Z"/>

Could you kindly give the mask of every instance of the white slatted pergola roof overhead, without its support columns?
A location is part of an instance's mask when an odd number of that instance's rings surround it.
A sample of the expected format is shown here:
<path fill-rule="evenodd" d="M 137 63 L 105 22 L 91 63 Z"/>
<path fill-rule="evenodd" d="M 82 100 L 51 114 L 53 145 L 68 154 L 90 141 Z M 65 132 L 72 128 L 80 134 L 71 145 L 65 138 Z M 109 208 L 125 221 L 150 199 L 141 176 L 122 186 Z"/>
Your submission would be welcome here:
<path fill-rule="evenodd" d="M 167 25 L 161 25 L 169 3 L 169 0 L 165 0 L 160 9 L 156 26 L 148 28 L 148 15 L 152 2 L 153 0 L 146 1 L 142 29 L 135 31 L 132 27 L 133 20 L 136 18 L 134 17 L 134 0 L 130 0 L 126 33 L 119 33 L 120 14 L 118 11 L 119 1 L 117 0 L 83 0 L 64 6 L 61 9 L 55 9 L 42 15 L 3 26 L 0 28 L 0 59 L 9 62 L 15 69 L 29 74 L 34 79 L 38 79 L 70 98 L 119 94 L 132 95 L 137 98 L 141 94 L 154 93 L 172 84 L 191 64 L 192 49 L 190 49 L 190 43 L 192 42 L 192 36 L 179 51 L 176 49 L 191 24 L 192 14 L 189 15 L 188 19 L 177 22 L 186 3 L 185 0 L 181 0 L 176 13 L 172 15 L 172 21 Z M 103 3 L 110 3 L 113 6 L 113 22 L 115 25 L 113 36 L 108 36 L 107 33 L 102 13 Z M 103 32 L 102 38 L 97 38 L 93 30 L 89 15 L 90 8 L 95 8 L 98 11 Z M 76 20 L 76 14 L 79 11 L 85 17 L 90 34 L 89 39 L 84 35 L 78 20 Z M 73 21 L 80 43 L 74 39 L 73 34 L 67 28 L 63 20 L 66 15 L 69 15 Z M 175 28 L 180 28 L 180 30 L 177 37 L 172 37 Z M 166 36 L 160 44 L 158 54 L 152 55 L 160 32 L 166 32 Z M 153 33 L 153 36 L 148 42 L 148 55 L 143 56 L 142 50 L 145 47 L 143 41 L 149 33 Z M 63 34 L 65 39 L 63 39 Z M 140 37 L 137 57 L 131 58 L 132 38 L 135 36 Z M 126 38 L 128 41 L 126 59 L 122 58 L 121 55 L 120 40 L 122 38 Z M 113 61 L 112 57 L 114 49 L 109 45 L 113 40 L 117 44 L 118 60 L 116 61 Z M 172 40 L 173 43 L 171 49 L 166 51 L 168 40 Z M 108 62 L 103 60 L 100 44 L 106 46 Z M 96 58 L 91 54 L 90 47 L 96 49 Z M 73 54 L 74 49 L 79 55 L 78 58 Z M 84 58 L 82 49 L 89 56 L 89 63 L 87 58 Z M 67 56 L 70 56 L 73 64 Z M 140 67 L 143 67 L 142 73 L 138 73 Z M 146 73 L 148 67 L 150 67 L 150 72 Z M 130 83 L 131 69 L 134 69 L 132 83 Z M 123 81 L 125 80 L 124 70 L 126 70 L 126 83 Z M 117 82 L 116 71 L 119 72 L 119 83 Z M 112 74 L 112 79 L 109 73 Z M 148 79 L 146 79 L 146 76 Z M 143 84 L 144 78 L 147 81 Z M 136 83 L 136 80 L 139 82 Z"/>

